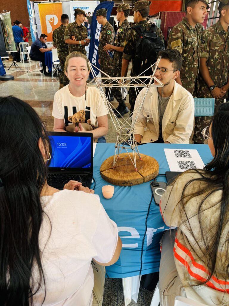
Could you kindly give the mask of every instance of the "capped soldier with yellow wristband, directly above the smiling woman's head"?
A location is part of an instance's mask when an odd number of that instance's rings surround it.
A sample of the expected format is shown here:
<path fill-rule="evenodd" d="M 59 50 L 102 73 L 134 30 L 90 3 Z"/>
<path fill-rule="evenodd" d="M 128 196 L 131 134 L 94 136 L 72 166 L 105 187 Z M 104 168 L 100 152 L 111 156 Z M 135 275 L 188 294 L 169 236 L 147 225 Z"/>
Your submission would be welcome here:
<path fill-rule="evenodd" d="M 87 28 L 82 25 L 86 17 L 85 11 L 75 9 L 75 21 L 68 24 L 65 30 L 65 43 L 68 44 L 68 52 L 81 52 L 86 55 L 85 46 L 88 46 L 90 39 L 87 38 Z"/>

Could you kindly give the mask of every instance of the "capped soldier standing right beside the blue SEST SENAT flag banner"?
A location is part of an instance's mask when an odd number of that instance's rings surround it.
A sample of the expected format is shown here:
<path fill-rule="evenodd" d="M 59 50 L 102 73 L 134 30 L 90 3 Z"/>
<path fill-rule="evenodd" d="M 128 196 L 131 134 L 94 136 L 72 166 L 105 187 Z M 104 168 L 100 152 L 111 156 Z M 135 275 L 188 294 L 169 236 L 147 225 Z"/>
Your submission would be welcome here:
<path fill-rule="evenodd" d="M 106 51 L 104 51 L 103 47 L 106 46 L 107 43 L 113 45 L 115 30 L 112 27 L 112 25 L 107 21 L 107 9 L 98 9 L 96 11 L 96 20 L 98 21 L 99 24 L 102 24 L 100 38 L 99 38 L 99 48 L 98 48 L 100 69 L 103 72 L 110 75 L 112 58 Z M 101 73 L 101 77 L 106 77 L 106 75 Z M 105 88 L 105 90 L 106 90 L 106 96 L 108 97 L 109 89 Z M 110 97 L 109 101 L 111 102 L 113 100 L 114 97 Z"/>

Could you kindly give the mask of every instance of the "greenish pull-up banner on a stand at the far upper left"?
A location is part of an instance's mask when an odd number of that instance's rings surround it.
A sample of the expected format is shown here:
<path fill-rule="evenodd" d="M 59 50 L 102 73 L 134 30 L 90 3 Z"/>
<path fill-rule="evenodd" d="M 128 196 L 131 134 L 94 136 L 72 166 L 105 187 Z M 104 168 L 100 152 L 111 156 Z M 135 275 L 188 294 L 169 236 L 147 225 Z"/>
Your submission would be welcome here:
<path fill-rule="evenodd" d="M 16 46 L 13 38 L 13 30 L 10 19 L 10 12 L 0 14 L 0 19 L 3 29 L 3 37 L 5 41 L 6 51 L 16 51 Z"/>

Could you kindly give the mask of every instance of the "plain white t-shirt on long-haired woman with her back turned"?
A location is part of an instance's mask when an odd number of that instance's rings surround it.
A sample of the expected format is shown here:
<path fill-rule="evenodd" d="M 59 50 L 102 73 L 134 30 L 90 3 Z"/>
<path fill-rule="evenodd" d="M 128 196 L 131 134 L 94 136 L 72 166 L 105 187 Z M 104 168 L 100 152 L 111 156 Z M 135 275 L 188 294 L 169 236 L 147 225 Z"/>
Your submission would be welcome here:
<path fill-rule="evenodd" d="M 117 225 L 108 217 L 99 196 L 93 194 L 62 190 L 42 196 L 41 202 L 45 212 L 39 232 L 46 282 L 43 305 L 90 306 L 94 285 L 91 260 L 107 263 L 112 259 Z M 37 279 L 36 267 L 33 277 Z M 39 289 L 33 296 L 34 305 L 41 305 L 43 298 L 44 289 Z"/>

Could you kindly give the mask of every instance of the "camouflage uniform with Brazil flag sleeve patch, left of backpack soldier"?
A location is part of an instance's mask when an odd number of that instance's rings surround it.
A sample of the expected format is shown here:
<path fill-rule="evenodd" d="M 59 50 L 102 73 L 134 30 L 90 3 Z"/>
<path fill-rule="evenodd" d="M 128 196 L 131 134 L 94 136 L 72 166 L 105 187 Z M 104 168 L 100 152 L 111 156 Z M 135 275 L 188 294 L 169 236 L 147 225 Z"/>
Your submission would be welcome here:
<path fill-rule="evenodd" d="M 129 30 L 129 23 L 127 19 L 122 22 L 122 25 L 118 27 L 118 36 L 114 41 L 114 45 L 117 47 L 124 47 L 125 35 Z M 111 76 L 120 77 L 122 72 L 122 54 L 123 52 L 115 51 L 114 58 L 112 61 L 112 72 Z M 121 90 L 118 87 L 112 88 L 112 94 L 120 103 L 122 100 Z M 125 99 L 124 99 L 125 100 Z"/>

